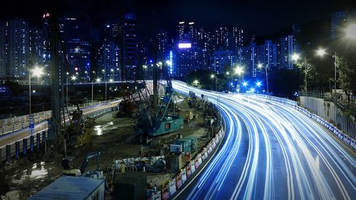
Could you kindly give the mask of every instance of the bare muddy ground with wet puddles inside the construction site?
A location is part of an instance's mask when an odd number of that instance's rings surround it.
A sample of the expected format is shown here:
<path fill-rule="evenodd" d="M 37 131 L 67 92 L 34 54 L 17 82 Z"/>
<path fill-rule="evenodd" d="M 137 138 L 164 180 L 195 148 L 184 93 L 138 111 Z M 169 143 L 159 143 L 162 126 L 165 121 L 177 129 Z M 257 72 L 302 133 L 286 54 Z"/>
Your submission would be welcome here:
<path fill-rule="evenodd" d="M 189 109 L 187 102 L 181 102 L 182 109 Z M 198 149 L 204 147 L 208 138 L 208 130 L 204 128 L 204 117 L 202 109 L 192 109 L 195 119 L 184 124 L 184 129 L 179 132 L 183 136 L 191 135 L 199 137 Z M 144 154 L 152 152 L 148 144 L 140 144 L 134 127 L 135 121 L 132 118 L 113 117 L 115 112 L 105 114 L 95 120 L 93 127 L 92 140 L 90 144 L 85 144 L 75 149 L 73 155 L 74 166 L 80 169 L 80 165 L 85 158 L 85 154 L 100 150 L 100 167 L 104 171 L 108 182 L 112 179 L 111 167 L 115 159 L 137 157 L 140 149 Z M 28 199 L 43 187 L 51 184 L 61 176 L 61 157 L 55 161 L 40 161 L 41 157 L 34 161 L 26 161 L 5 172 L 0 171 L 0 199 Z M 86 170 L 95 169 L 96 160 L 88 163 Z M 167 174 L 150 174 L 150 176 L 167 176 Z"/>

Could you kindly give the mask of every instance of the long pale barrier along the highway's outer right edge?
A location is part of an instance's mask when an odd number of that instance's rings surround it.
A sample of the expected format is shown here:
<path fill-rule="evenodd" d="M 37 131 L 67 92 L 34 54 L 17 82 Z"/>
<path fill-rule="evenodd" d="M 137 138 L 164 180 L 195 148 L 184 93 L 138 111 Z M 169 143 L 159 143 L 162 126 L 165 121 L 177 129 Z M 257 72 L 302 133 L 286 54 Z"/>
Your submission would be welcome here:
<path fill-rule="evenodd" d="M 345 142 L 345 144 L 349 145 L 352 149 L 356 150 L 356 140 L 355 139 L 353 139 L 349 135 L 343 133 L 342 130 L 339 130 L 332 123 L 328 122 L 327 120 L 324 120 L 323 117 L 315 115 L 314 113 L 306 110 L 305 108 L 300 107 L 296 101 L 288 100 L 288 99 L 285 99 L 285 98 L 277 98 L 277 97 L 273 97 L 273 96 L 266 97 L 267 95 L 248 94 L 246 96 L 252 96 L 252 97 L 254 96 L 256 98 L 274 100 L 276 102 L 281 102 L 284 105 L 287 105 L 289 107 L 293 107 L 295 110 L 303 112 L 305 115 L 307 115 L 308 117 L 312 118 L 313 120 L 318 122 L 323 127 L 325 127 L 328 130 L 330 130 L 330 132 L 333 132 L 333 134 L 335 136 L 337 136 L 342 142 Z"/>

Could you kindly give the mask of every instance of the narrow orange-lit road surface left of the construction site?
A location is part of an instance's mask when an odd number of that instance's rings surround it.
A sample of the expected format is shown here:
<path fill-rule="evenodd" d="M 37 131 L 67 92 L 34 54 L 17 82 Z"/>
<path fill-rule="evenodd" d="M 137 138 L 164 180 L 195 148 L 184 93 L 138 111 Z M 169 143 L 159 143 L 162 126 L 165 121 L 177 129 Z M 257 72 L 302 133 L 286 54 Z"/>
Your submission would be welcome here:
<path fill-rule="evenodd" d="M 108 102 L 107 104 L 85 107 L 82 109 L 83 115 L 88 115 L 92 112 L 96 112 L 98 110 L 103 110 L 105 108 L 112 107 L 114 105 L 117 105 L 117 102 L 118 101 L 114 101 L 114 102 Z M 47 121 L 39 122 L 38 124 L 35 125 L 35 132 L 42 132 L 43 130 L 47 130 L 47 129 L 48 129 Z M 29 131 L 27 127 L 22 130 L 13 132 L 9 135 L 5 135 L 4 137 L 0 137 L 0 148 L 6 146 L 6 144 L 11 144 L 13 142 L 22 140 L 24 137 L 28 137 L 28 135 L 29 135 Z"/>

